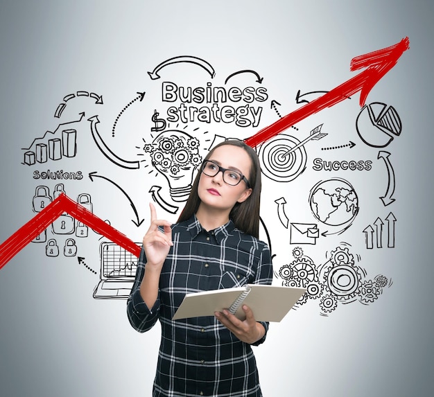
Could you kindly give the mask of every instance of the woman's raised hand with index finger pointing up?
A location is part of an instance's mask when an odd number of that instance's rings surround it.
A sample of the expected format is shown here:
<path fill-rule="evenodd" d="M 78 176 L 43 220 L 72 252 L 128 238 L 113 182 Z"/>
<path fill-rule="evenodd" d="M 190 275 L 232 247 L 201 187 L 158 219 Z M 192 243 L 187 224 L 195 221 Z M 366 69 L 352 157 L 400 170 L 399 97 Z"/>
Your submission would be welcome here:
<path fill-rule="evenodd" d="M 171 223 L 167 220 L 157 220 L 155 206 L 150 206 L 150 227 L 143 238 L 143 247 L 146 253 L 146 267 L 161 270 L 164 260 L 173 245 Z M 164 233 L 158 229 L 162 226 Z"/>

